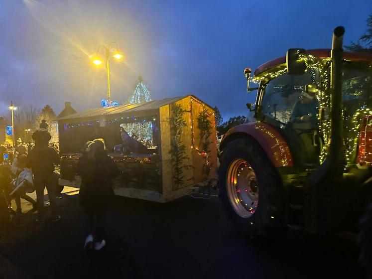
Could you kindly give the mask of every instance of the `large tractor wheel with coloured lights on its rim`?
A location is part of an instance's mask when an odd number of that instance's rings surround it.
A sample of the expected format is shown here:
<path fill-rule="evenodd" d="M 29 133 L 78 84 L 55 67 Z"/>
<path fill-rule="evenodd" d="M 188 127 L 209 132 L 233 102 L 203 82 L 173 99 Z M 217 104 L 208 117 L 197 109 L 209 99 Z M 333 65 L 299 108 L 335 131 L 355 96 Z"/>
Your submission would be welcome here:
<path fill-rule="evenodd" d="M 236 139 L 220 158 L 220 199 L 238 233 L 268 236 L 282 228 L 281 178 L 254 139 Z"/>

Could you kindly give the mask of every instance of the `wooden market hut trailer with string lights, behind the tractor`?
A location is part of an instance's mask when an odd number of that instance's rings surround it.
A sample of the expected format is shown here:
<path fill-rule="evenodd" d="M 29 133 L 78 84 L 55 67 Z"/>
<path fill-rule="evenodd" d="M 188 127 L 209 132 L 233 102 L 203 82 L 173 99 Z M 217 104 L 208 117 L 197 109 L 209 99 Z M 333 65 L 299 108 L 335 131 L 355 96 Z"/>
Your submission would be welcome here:
<path fill-rule="evenodd" d="M 121 170 L 116 195 L 167 202 L 206 185 L 215 176 L 217 137 L 214 110 L 195 96 L 90 109 L 57 119 L 63 186 L 80 187 L 76 165 L 84 144 L 105 140 Z M 145 143 L 146 154 L 114 151 L 120 131 Z"/>

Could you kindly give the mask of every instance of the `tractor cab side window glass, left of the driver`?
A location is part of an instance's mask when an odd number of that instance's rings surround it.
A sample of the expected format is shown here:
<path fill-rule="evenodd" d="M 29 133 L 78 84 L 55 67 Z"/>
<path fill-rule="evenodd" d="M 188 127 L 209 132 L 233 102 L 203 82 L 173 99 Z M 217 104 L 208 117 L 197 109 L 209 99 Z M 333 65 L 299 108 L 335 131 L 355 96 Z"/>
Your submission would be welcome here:
<path fill-rule="evenodd" d="M 261 102 L 261 113 L 281 123 L 288 123 L 304 86 L 316 84 L 318 81 L 319 72 L 313 68 L 309 68 L 303 75 L 284 73 L 272 79 L 266 85 Z"/>

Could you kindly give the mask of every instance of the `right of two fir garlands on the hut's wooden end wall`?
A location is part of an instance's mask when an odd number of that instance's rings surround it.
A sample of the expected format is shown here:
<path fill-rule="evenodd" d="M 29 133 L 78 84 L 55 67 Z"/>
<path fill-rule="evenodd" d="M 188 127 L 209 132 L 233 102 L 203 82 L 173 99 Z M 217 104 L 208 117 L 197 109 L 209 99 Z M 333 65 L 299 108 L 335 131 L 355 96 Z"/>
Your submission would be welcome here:
<path fill-rule="evenodd" d="M 211 152 L 210 145 L 212 141 L 209 140 L 210 136 L 212 135 L 212 123 L 210 121 L 212 113 L 209 113 L 208 110 L 203 107 L 203 111 L 198 116 L 198 128 L 200 130 L 200 138 L 201 138 L 201 151 L 200 154 L 204 159 L 203 165 L 203 174 L 204 178 L 207 179 L 209 172 L 212 169 L 212 164 L 209 161 L 209 154 Z"/>

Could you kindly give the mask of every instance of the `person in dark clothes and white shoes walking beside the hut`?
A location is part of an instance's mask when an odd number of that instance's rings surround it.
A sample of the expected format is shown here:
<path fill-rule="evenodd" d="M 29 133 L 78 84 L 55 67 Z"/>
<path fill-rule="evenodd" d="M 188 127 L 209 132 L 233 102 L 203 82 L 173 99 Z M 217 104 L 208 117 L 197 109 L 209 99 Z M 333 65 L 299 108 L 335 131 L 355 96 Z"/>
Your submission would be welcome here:
<path fill-rule="evenodd" d="M 80 204 L 88 220 L 84 249 L 99 251 L 106 245 L 106 211 L 114 196 L 112 179 L 119 175 L 119 169 L 107 155 L 103 139 L 87 142 L 86 146 L 77 166 L 77 174 L 82 179 Z"/>

